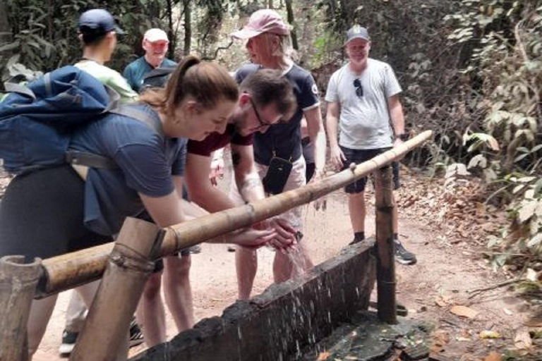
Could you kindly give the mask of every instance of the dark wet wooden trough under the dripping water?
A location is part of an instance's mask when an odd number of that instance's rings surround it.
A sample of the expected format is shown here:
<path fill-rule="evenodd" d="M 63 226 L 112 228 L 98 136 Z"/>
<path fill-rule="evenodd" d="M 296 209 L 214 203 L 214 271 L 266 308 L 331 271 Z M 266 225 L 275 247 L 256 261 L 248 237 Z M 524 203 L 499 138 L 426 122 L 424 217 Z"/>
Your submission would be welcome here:
<path fill-rule="evenodd" d="M 351 245 L 307 274 L 267 288 L 250 302 L 198 322 L 131 361 L 277 361 L 329 336 L 367 310 L 375 284 L 374 238 Z"/>

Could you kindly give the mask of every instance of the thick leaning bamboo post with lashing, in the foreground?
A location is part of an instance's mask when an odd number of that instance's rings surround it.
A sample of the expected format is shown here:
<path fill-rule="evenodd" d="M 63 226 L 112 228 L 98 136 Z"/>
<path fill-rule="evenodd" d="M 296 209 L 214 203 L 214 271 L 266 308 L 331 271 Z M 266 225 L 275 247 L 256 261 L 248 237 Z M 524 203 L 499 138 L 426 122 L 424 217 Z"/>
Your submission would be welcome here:
<path fill-rule="evenodd" d="M 126 219 L 70 360 L 126 360 L 130 320 L 163 235 L 155 224 Z"/>

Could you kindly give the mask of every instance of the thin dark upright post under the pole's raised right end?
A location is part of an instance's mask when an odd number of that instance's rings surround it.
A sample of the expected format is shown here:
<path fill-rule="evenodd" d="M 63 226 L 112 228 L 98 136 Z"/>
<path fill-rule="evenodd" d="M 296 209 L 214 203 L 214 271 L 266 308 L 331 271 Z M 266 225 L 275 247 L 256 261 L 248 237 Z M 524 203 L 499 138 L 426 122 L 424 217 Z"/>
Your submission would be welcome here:
<path fill-rule="evenodd" d="M 395 243 L 392 214 L 395 202 L 392 188 L 392 167 L 375 171 L 376 198 L 376 279 L 378 317 L 388 324 L 397 324 L 395 300 Z"/>

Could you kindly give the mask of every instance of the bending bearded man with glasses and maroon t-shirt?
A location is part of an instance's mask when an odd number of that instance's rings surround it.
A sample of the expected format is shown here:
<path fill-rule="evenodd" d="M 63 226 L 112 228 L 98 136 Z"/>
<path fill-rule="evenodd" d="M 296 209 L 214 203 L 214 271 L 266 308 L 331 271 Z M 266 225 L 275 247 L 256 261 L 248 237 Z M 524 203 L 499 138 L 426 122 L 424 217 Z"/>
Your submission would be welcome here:
<path fill-rule="evenodd" d="M 234 183 L 244 202 L 265 198 L 260 176 L 254 163 L 253 133 L 265 133 L 275 123 L 289 119 L 296 111 L 296 98 L 289 81 L 280 71 L 262 69 L 249 75 L 239 86 L 236 109 L 229 117 L 226 131 L 211 133 L 204 140 L 190 140 L 187 145 L 186 185 L 188 195 L 208 212 L 219 212 L 236 207 L 227 193 L 213 186 L 209 180 L 212 152 L 228 144 L 234 167 Z M 294 229 L 280 219 L 271 219 L 255 225 L 273 227 L 278 239 L 270 245 L 283 247 L 284 240 L 294 240 Z"/>

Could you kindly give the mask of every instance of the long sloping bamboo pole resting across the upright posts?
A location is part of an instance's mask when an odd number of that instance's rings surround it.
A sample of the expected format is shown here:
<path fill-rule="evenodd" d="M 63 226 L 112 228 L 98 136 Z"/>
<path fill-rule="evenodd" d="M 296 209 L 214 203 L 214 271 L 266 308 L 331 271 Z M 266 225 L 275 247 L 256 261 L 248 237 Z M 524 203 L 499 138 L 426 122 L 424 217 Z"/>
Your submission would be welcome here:
<path fill-rule="evenodd" d="M 262 221 L 271 216 L 284 213 L 291 208 L 312 202 L 368 175 L 391 161 L 401 159 L 411 149 L 422 145 L 432 135 L 432 131 L 426 130 L 370 161 L 357 166 L 352 165 L 350 169 L 299 189 L 169 227 L 162 243 L 162 256 L 171 255 L 181 248 L 197 245 L 205 240 L 238 228 L 250 226 L 257 221 Z M 40 280 L 36 298 L 44 298 L 47 295 L 99 278 L 103 273 L 111 249 L 112 245 L 102 245 L 73 252 L 69 255 L 44 259 L 42 262 L 44 277 Z"/>

